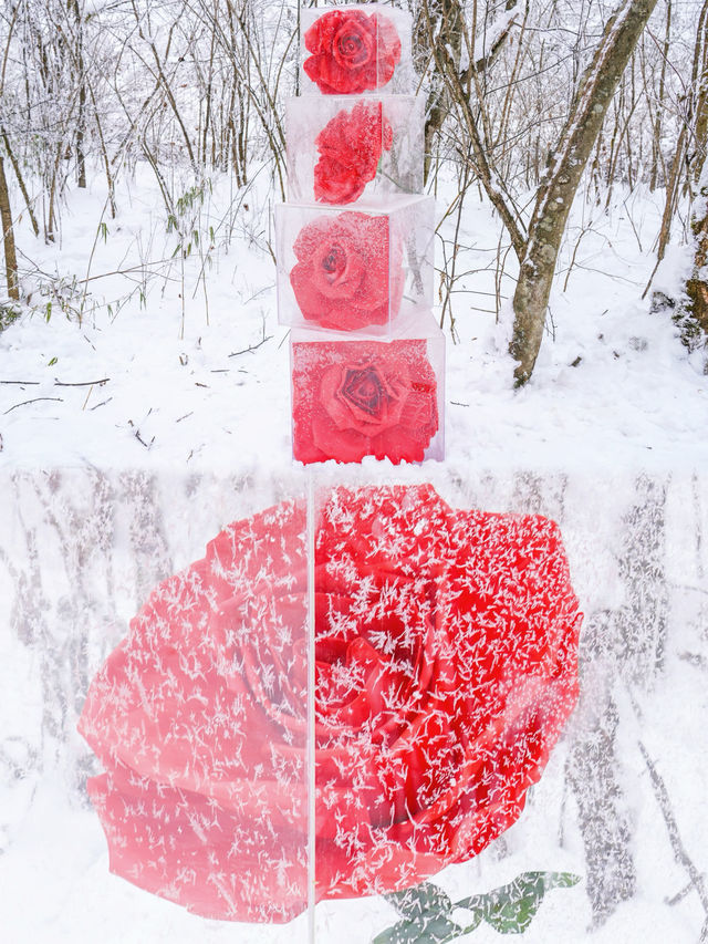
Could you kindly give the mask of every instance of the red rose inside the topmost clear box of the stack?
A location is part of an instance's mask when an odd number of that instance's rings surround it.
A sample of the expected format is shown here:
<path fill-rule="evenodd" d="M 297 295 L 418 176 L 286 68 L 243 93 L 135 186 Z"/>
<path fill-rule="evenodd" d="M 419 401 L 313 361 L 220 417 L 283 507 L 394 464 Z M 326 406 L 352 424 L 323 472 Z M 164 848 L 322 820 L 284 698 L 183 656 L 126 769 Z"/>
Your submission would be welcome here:
<path fill-rule="evenodd" d="M 312 55 L 303 69 L 325 95 L 381 89 L 400 61 L 396 28 L 381 13 L 331 10 L 314 21 L 304 41 Z"/>

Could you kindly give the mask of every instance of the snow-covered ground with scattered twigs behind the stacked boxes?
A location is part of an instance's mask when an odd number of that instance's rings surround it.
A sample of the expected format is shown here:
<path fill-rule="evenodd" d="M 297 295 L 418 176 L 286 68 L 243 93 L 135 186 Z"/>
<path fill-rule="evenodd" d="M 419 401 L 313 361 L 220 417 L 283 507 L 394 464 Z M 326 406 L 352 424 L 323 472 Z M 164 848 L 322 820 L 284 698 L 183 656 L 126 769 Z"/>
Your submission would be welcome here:
<path fill-rule="evenodd" d="M 95 222 L 105 199 L 100 187 L 72 195 L 58 246 L 37 242 L 32 258 L 45 272 L 76 274 L 74 311 L 65 314 L 53 300 L 46 322 L 50 297 L 35 295 L 38 310 L 0 335 L 0 467 L 233 469 L 288 461 L 289 353 L 266 251 L 268 191 L 259 206 L 253 194 L 246 204 L 229 204 L 229 196 L 207 194 L 201 210 L 214 248 L 202 245 L 204 257 L 192 250 L 184 268 L 176 257 L 168 278 L 148 279 L 142 270 L 165 267 L 146 263 L 169 259 L 177 246 L 160 222 L 155 188 L 138 176 L 132 193 L 119 195 L 118 218 L 104 216 L 105 239 Z M 678 343 L 668 315 L 649 313 L 649 297 L 639 300 L 654 267 L 660 195 L 635 191 L 608 212 L 576 205 L 549 334 L 521 391 L 510 383 L 508 309 L 500 324 L 479 311 L 493 309 L 498 225 L 468 199 L 459 241 L 471 249 L 458 271 L 478 271 L 456 284 L 448 458 L 478 468 L 705 467 L 708 381 L 700 356 L 691 360 Z M 675 288 L 684 260 L 675 250 L 654 287 Z M 106 274 L 119 269 L 131 271 Z M 507 274 L 502 295 L 512 284 Z M 131 290 L 116 310 L 115 300 Z M 100 307 L 91 310 L 93 303 Z"/>

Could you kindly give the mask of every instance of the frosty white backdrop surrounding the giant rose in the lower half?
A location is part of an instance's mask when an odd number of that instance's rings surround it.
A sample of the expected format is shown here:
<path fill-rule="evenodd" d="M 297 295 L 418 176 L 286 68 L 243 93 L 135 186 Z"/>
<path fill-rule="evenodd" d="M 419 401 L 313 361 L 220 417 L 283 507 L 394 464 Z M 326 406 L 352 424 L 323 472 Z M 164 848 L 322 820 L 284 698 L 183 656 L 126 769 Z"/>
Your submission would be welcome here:
<path fill-rule="evenodd" d="M 561 526 L 585 611 L 580 707 L 520 821 L 466 865 L 436 881 L 456 899 L 525 869 L 583 876 L 551 893 L 527 940 L 689 940 L 700 926 L 695 891 L 674 860 L 644 747 L 662 776 L 688 854 L 700 868 L 708 834 L 700 751 L 706 724 L 708 502 L 687 473 L 481 473 L 469 465 L 381 470 L 433 480 L 460 507 L 542 512 Z M 339 481 L 342 470 L 331 476 Z M 365 481 L 365 474 L 348 480 Z M 322 481 L 322 479 L 321 479 Z M 327 484 L 327 479 L 323 480 Z M 226 940 L 229 930 L 134 889 L 107 871 L 105 842 L 82 782 L 97 772 L 74 732 L 90 678 L 124 635 L 152 587 L 202 553 L 226 517 L 299 488 L 267 476 L 221 478 L 91 470 L 6 479 L 0 619 L 2 848 L 10 940 Z M 677 719 L 680 724 L 677 725 Z M 38 894 L 41 890 L 41 894 Z M 625 901 L 626 900 L 626 901 Z M 393 924 L 382 900 L 324 903 L 317 941 L 361 942 Z M 299 940 L 239 925 L 239 940 Z M 51 929 L 51 931 L 50 931 Z M 231 932 L 232 933 L 232 932 Z M 493 932 L 480 931 L 482 941 Z M 305 940 L 304 937 L 302 940 Z"/>

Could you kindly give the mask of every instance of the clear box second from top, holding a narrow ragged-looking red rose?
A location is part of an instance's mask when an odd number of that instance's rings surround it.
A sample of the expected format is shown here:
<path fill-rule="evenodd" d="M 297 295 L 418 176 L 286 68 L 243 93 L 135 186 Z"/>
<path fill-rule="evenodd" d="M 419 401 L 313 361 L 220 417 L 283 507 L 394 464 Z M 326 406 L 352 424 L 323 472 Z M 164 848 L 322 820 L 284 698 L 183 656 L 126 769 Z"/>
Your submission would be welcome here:
<path fill-rule="evenodd" d="M 423 97 L 290 98 L 288 196 L 376 206 L 423 190 Z"/>

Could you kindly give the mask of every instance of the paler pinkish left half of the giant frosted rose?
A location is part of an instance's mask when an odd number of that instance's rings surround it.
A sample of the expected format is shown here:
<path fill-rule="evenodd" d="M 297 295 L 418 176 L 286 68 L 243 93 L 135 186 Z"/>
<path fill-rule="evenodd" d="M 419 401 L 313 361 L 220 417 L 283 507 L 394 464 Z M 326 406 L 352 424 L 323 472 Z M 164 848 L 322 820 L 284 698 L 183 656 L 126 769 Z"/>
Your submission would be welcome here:
<path fill-rule="evenodd" d="M 304 526 L 231 525 L 155 588 L 80 719 L 111 871 L 205 917 L 306 905 Z"/>

